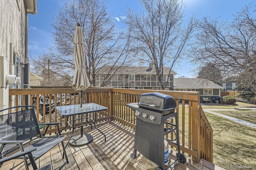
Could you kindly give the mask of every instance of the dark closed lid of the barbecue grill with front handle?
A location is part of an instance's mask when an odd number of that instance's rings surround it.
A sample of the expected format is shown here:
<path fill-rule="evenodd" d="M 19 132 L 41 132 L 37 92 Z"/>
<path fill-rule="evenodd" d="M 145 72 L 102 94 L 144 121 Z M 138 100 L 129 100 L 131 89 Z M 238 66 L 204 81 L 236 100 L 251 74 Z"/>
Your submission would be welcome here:
<path fill-rule="evenodd" d="M 170 96 L 158 92 L 144 93 L 140 95 L 139 107 L 154 111 L 166 111 L 176 109 L 176 100 Z"/>

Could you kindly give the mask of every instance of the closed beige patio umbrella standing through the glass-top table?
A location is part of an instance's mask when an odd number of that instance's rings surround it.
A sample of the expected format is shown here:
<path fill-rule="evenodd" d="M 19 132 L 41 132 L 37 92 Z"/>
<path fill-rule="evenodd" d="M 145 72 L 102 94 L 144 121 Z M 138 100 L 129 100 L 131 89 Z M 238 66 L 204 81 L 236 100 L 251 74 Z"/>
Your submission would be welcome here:
<path fill-rule="evenodd" d="M 84 69 L 85 67 L 85 51 L 84 51 L 84 36 L 80 24 L 76 24 L 76 31 L 74 37 L 74 58 L 75 58 L 75 72 L 72 88 L 75 91 L 80 91 L 81 107 L 83 90 L 90 86 L 90 81 Z"/>

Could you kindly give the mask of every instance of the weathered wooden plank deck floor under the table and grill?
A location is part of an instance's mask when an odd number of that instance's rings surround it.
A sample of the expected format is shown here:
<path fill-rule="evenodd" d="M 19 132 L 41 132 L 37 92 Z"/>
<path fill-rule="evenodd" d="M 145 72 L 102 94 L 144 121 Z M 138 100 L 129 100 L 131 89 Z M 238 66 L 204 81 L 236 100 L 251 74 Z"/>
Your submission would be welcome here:
<path fill-rule="evenodd" d="M 137 158 L 132 159 L 130 154 L 133 152 L 134 134 L 135 131 L 124 127 L 116 121 L 107 121 L 97 124 L 97 127 L 106 134 L 106 142 L 104 142 L 104 136 L 90 126 L 84 127 L 85 133 L 93 135 L 93 142 L 83 147 L 70 147 L 66 148 L 68 154 L 69 164 L 62 169 L 66 170 L 154 170 L 156 165 L 152 164 L 150 160 L 142 156 L 137 152 Z M 80 128 L 76 128 L 76 134 L 80 133 Z M 70 131 L 63 131 L 62 134 L 67 135 L 65 144 L 70 136 Z M 56 146 L 51 151 L 46 153 L 40 159 L 36 161 L 38 168 L 52 163 L 52 169 L 56 170 L 63 164 L 62 152 L 60 152 L 61 146 Z M 175 152 L 171 149 L 169 155 L 169 164 L 176 160 Z M 21 160 L 12 160 L 6 162 L 1 170 L 12 168 Z M 207 166 L 207 167 L 206 167 Z M 32 169 L 32 167 L 30 166 Z M 22 163 L 18 168 L 24 170 L 24 164 Z M 200 161 L 199 163 L 193 162 L 187 158 L 185 164 L 179 163 L 174 167 L 174 170 L 207 170 L 207 169 L 222 169 L 214 166 L 207 161 Z"/>

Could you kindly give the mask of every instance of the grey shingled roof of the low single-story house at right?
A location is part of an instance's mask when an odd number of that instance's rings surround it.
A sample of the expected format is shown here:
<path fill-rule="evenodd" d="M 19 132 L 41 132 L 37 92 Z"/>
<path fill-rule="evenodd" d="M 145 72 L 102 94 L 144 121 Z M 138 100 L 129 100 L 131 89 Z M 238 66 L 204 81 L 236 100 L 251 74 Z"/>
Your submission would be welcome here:
<path fill-rule="evenodd" d="M 213 81 L 202 78 L 175 78 L 174 89 L 224 89 Z"/>

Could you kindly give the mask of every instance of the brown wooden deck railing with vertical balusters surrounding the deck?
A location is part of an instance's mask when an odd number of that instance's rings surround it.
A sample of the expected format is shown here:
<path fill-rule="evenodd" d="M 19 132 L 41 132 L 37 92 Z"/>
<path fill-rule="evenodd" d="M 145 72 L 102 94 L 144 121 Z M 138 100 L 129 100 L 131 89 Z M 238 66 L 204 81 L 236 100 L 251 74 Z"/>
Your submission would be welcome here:
<path fill-rule="evenodd" d="M 97 103 L 108 107 L 107 111 L 96 113 L 96 121 L 115 120 L 120 123 L 136 128 L 136 117 L 133 111 L 126 106 L 127 103 L 138 102 L 141 94 L 153 92 L 152 90 L 139 90 L 139 89 L 120 89 L 120 88 L 96 88 L 90 87 L 84 91 L 83 97 L 84 103 Z M 200 95 L 199 92 L 183 92 L 183 91 L 154 91 L 171 95 L 176 99 L 179 119 L 179 131 L 180 131 L 180 148 L 182 152 L 186 152 L 189 156 L 192 156 L 192 160 L 199 162 L 201 158 L 213 162 L 212 151 L 212 128 L 200 107 Z M 78 91 L 74 91 L 71 88 L 35 88 L 35 89 L 10 89 L 9 90 L 9 107 L 22 105 L 33 105 L 35 101 L 39 101 L 39 96 L 43 95 L 45 98 L 49 98 L 55 101 L 54 106 L 57 106 L 57 101 L 60 98 L 64 98 L 64 103 L 60 102 L 60 105 L 66 105 L 68 96 L 71 96 Z M 182 103 L 179 104 L 179 99 Z M 15 101 L 15 102 L 14 102 Z M 22 101 L 22 103 L 20 103 Z M 26 103 L 29 101 L 29 103 Z M 74 100 L 76 104 L 80 103 L 80 100 Z M 39 102 L 36 103 L 36 114 L 39 120 Z M 46 121 L 45 101 L 42 109 L 42 121 Z M 51 110 L 51 106 L 50 106 Z M 93 116 L 93 115 L 89 115 Z M 49 114 L 49 121 L 63 122 L 61 126 L 66 125 L 66 119 L 62 118 L 54 112 L 54 115 Z M 173 121 L 173 120 L 171 120 Z M 67 127 L 68 129 L 70 127 Z M 48 130 L 49 133 L 56 132 L 56 128 Z M 167 138 L 175 138 L 171 133 Z M 169 143 L 172 147 L 175 145 Z"/>

